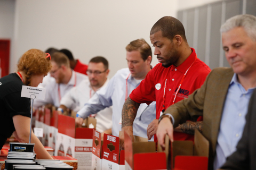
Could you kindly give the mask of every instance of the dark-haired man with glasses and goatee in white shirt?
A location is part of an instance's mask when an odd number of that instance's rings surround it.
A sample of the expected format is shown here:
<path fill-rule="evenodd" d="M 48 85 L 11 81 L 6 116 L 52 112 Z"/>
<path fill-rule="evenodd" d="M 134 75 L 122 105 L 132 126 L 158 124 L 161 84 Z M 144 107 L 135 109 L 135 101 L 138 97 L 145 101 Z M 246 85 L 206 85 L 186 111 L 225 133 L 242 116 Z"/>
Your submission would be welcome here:
<path fill-rule="evenodd" d="M 74 112 L 79 111 L 85 103 L 100 88 L 107 86 L 108 80 L 108 61 L 106 58 L 97 56 L 93 57 L 87 69 L 89 80 L 83 80 L 78 86 L 71 88 L 60 101 L 59 112 L 70 109 Z M 112 107 L 107 107 L 95 115 L 97 120 L 96 130 L 99 132 L 112 134 Z M 102 134 L 103 134 L 102 133 Z"/>

